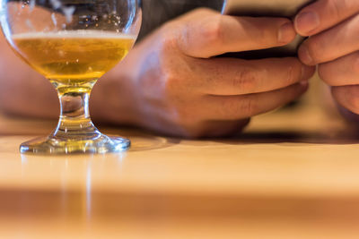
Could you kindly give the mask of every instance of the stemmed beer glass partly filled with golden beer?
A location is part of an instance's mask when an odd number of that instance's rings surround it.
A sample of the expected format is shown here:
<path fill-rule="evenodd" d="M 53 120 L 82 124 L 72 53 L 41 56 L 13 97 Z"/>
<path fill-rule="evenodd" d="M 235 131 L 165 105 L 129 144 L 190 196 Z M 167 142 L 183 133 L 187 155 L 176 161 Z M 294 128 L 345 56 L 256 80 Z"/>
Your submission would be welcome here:
<path fill-rule="evenodd" d="M 133 47 L 140 0 L 0 0 L 4 36 L 24 62 L 56 88 L 61 114 L 46 138 L 22 143 L 22 153 L 106 153 L 129 148 L 92 124 L 95 82 Z"/>

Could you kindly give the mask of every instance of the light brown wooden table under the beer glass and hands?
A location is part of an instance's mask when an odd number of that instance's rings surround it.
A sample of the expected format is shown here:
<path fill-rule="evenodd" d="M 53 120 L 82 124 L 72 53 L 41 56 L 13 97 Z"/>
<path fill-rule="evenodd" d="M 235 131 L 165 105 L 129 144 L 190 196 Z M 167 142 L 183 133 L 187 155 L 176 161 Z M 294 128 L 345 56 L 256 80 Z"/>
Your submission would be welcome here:
<path fill-rule="evenodd" d="M 320 106 L 187 141 L 103 129 L 127 153 L 20 155 L 56 123 L 0 118 L 0 237 L 358 238 L 359 139 Z"/>

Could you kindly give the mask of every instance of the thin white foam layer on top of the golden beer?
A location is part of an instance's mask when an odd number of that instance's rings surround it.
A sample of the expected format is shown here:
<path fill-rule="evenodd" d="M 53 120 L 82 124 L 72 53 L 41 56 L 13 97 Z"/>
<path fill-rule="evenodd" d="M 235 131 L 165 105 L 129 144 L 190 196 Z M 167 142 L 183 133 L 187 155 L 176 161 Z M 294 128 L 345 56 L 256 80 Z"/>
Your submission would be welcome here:
<path fill-rule="evenodd" d="M 135 35 L 106 30 L 61 30 L 57 32 L 26 32 L 13 34 L 13 39 L 23 38 L 127 38 L 136 40 Z"/>

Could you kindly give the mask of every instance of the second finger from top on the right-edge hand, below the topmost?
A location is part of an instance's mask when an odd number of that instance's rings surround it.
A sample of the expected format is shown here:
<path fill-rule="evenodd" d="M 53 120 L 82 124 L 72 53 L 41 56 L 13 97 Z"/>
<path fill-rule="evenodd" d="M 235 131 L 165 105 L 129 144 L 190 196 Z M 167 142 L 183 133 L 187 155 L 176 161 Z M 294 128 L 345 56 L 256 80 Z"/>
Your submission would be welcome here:
<path fill-rule="evenodd" d="M 359 49 L 359 14 L 331 30 L 308 38 L 298 50 L 304 64 L 333 61 Z"/>

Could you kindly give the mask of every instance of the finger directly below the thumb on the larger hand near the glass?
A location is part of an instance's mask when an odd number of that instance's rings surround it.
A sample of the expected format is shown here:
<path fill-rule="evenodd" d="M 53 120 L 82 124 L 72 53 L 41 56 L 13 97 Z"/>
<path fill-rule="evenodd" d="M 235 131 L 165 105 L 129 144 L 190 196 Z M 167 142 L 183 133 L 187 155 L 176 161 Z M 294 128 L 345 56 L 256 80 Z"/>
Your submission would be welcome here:
<path fill-rule="evenodd" d="M 209 95 L 245 95 L 278 90 L 308 81 L 315 68 L 297 58 L 270 58 L 246 61 L 232 58 L 194 59 L 188 79 L 192 89 Z M 201 77 L 198 77 L 201 76 Z M 199 78 L 199 79 L 198 79 Z"/>

